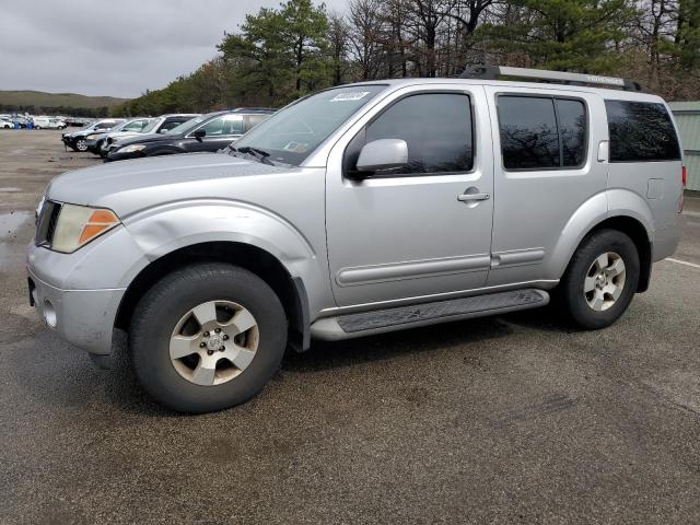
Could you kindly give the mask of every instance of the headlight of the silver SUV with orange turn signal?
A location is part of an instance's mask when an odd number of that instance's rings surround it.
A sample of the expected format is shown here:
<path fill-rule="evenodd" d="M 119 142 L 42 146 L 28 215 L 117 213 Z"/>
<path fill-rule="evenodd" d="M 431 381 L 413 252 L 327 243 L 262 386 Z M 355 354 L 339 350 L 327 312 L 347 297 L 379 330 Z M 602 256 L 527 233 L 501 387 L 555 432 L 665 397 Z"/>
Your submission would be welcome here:
<path fill-rule="evenodd" d="M 71 254 L 119 224 L 112 210 L 63 205 L 56 223 L 51 249 Z"/>

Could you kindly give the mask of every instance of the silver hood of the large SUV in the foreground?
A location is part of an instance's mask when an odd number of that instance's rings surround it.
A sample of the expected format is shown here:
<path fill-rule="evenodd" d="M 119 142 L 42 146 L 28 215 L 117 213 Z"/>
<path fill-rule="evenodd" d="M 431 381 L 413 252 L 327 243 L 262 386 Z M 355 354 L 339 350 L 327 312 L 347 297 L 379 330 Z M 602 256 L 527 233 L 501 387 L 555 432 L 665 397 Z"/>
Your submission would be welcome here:
<path fill-rule="evenodd" d="M 56 177 L 47 197 L 104 207 L 124 219 L 149 207 L 187 199 L 242 198 L 234 179 L 296 172 L 223 153 L 189 153 L 101 164 Z M 256 185 L 259 182 L 256 180 Z"/>

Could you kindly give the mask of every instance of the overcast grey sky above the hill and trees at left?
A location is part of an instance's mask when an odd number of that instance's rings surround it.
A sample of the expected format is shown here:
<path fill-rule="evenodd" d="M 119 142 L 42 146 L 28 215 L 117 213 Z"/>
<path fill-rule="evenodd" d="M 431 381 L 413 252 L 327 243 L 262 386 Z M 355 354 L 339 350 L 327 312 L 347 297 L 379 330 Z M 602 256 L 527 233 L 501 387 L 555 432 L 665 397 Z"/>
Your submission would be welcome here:
<path fill-rule="evenodd" d="M 139 96 L 215 56 L 246 13 L 279 3 L 0 0 L 0 90 Z M 325 3 L 343 11 L 347 0 Z"/>

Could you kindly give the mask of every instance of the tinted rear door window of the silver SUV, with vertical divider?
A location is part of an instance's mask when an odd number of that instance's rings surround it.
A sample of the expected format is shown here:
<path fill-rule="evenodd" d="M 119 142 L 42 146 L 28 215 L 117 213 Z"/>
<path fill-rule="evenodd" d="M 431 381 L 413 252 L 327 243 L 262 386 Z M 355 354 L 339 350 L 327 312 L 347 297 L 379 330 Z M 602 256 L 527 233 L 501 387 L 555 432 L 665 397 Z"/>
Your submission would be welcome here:
<path fill-rule="evenodd" d="M 583 101 L 500 95 L 498 116 L 504 168 L 560 170 L 585 162 L 588 127 Z"/>

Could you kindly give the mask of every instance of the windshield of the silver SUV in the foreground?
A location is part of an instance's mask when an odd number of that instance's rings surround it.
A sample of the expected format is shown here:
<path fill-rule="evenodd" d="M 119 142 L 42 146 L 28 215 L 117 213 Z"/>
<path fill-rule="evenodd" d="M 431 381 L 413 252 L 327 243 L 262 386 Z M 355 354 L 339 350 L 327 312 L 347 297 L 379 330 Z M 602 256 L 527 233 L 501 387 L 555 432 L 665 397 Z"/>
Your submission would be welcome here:
<path fill-rule="evenodd" d="M 349 85 L 302 98 L 248 131 L 233 145 L 269 153 L 272 161 L 300 165 L 385 85 Z"/>

